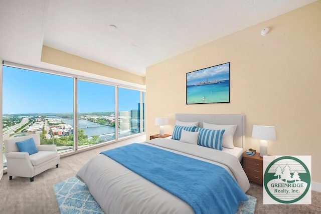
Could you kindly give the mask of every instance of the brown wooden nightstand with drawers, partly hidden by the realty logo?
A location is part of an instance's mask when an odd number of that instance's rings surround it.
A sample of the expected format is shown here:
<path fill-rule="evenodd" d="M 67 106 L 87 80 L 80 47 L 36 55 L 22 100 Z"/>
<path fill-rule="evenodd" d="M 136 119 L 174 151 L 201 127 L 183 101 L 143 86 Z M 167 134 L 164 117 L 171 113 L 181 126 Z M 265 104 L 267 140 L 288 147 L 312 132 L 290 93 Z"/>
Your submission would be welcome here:
<path fill-rule="evenodd" d="M 245 152 L 243 153 L 243 168 L 247 177 L 250 181 L 263 184 L 263 157 L 260 157 L 258 152 L 254 156 L 246 155 Z"/>

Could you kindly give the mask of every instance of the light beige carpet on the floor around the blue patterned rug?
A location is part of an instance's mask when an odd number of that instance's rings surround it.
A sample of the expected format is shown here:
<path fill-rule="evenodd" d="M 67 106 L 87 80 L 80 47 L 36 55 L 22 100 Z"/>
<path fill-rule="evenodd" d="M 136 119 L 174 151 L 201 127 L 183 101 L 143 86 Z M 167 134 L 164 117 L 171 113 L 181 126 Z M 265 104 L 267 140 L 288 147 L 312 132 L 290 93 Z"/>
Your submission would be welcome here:
<path fill-rule="evenodd" d="M 62 157 L 58 168 L 54 166 L 36 175 L 34 182 L 30 182 L 29 178 L 15 176 L 12 180 L 9 180 L 8 175 L 5 174 L 0 181 L 0 213 L 60 213 L 53 188 L 54 184 L 75 176 L 85 163 L 101 151 L 144 140 L 145 135 L 142 135 L 68 157 Z M 246 194 L 257 198 L 254 213 L 321 213 L 320 192 L 312 191 L 311 205 L 264 205 L 263 187 L 256 183 L 251 183 L 251 187 Z"/>

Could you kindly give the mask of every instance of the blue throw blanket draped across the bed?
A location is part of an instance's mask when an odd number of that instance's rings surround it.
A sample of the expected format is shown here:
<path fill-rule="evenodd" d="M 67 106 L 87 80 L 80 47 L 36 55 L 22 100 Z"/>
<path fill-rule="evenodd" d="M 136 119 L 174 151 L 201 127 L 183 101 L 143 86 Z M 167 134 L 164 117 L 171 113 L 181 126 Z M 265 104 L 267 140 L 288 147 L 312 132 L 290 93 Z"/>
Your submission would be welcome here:
<path fill-rule="evenodd" d="M 133 143 L 101 152 L 191 205 L 195 213 L 235 213 L 248 197 L 223 167 Z"/>

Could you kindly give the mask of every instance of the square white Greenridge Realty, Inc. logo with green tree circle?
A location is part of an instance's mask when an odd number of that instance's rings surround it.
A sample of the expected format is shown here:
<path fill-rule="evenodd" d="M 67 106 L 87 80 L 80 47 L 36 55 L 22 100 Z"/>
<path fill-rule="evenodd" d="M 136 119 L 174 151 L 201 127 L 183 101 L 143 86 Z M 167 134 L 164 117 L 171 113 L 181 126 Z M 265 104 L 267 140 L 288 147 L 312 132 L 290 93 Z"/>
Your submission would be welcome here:
<path fill-rule="evenodd" d="M 264 156 L 263 171 L 263 204 L 311 204 L 311 156 Z"/>

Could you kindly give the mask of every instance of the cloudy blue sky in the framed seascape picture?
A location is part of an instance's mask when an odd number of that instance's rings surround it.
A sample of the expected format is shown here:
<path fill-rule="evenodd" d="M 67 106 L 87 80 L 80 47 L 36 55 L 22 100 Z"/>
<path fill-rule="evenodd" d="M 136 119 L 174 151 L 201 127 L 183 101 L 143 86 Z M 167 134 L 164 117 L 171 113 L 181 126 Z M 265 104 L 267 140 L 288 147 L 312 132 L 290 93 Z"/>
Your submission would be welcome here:
<path fill-rule="evenodd" d="M 229 80 L 230 63 L 204 68 L 187 73 L 187 85 L 215 80 Z"/>

